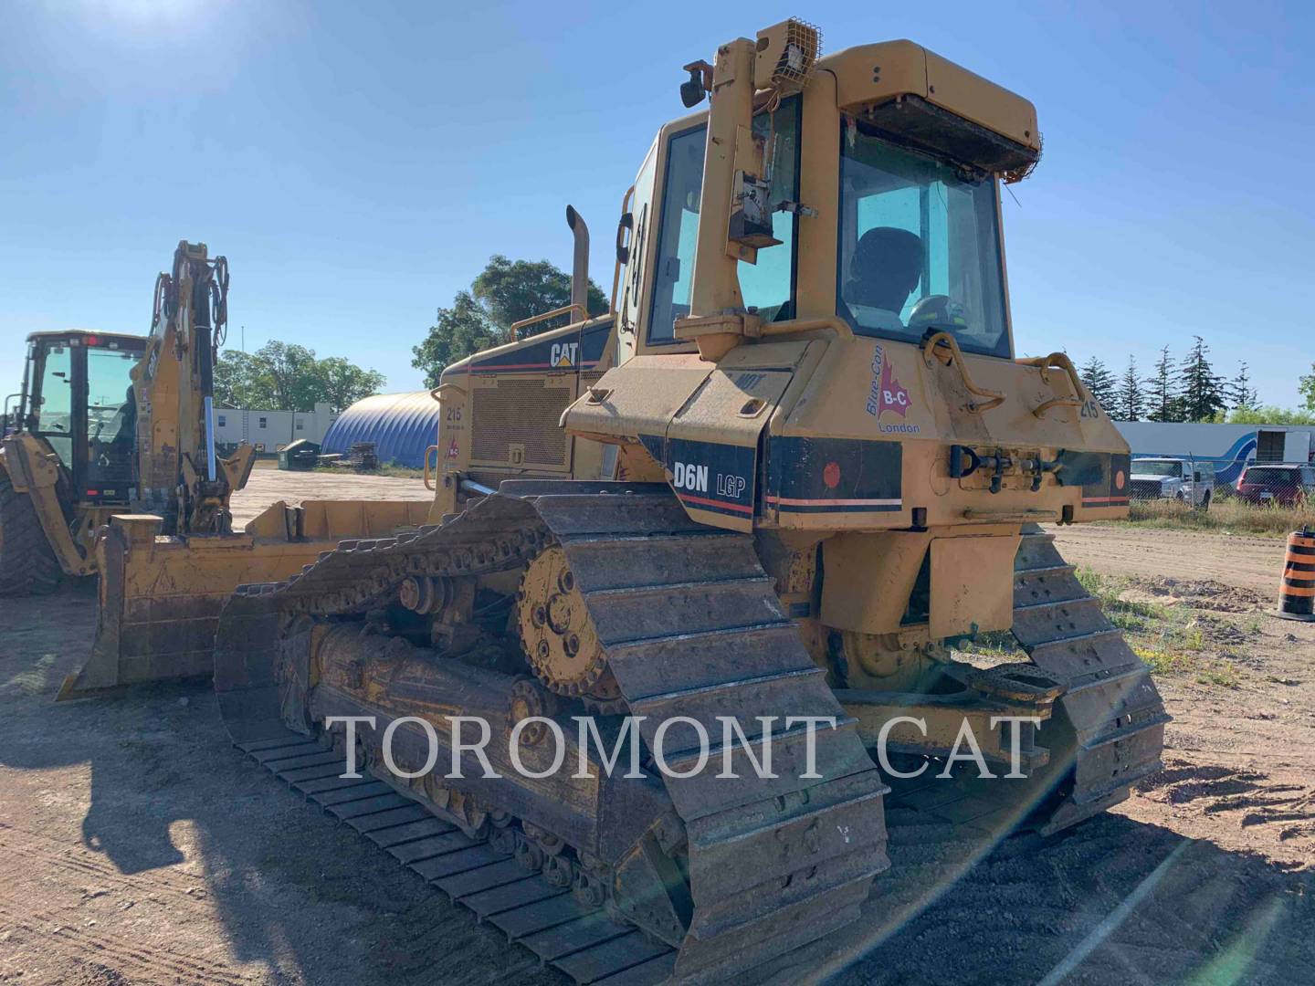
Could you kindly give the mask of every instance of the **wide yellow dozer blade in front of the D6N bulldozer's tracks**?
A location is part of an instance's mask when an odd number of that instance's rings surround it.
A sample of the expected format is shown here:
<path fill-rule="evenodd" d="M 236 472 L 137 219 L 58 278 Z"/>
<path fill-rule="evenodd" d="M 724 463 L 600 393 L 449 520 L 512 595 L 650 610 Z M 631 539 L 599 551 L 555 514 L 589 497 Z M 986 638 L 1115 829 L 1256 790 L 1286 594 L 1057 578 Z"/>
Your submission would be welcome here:
<path fill-rule="evenodd" d="M 243 534 L 159 536 L 160 518 L 121 514 L 97 540 L 100 569 L 91 659 L 57 701 L 153 681 L 208 678 L 214 634 L 233 590 L 287 578 L 345 538 L 423 523 L 421 501 L 279 502 Z"/>

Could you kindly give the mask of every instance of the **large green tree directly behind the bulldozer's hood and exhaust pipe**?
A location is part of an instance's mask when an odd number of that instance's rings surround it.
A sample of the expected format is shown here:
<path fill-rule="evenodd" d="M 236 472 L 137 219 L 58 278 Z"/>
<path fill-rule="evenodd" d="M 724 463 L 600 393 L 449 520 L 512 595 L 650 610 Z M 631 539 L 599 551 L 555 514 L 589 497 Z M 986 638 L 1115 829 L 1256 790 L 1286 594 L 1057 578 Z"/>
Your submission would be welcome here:
<path fill-rule="evenodd" d="M 425 340 L 412 347 L 412 365 L 425 371 L 426 387 L 438 387 L 446 367 L 472 352 L 508 342 L 513 323 L 568 304 L 571 275 L 547 260 L 509 260 L 494 254 L 469 291 L 458 292 L 450 308 L 438 309 Z M 606 310 L 602 289 L 589 281 L 589 314 Z M 568 316 L 535 322 L 521 338 L 569 322 Z"/>

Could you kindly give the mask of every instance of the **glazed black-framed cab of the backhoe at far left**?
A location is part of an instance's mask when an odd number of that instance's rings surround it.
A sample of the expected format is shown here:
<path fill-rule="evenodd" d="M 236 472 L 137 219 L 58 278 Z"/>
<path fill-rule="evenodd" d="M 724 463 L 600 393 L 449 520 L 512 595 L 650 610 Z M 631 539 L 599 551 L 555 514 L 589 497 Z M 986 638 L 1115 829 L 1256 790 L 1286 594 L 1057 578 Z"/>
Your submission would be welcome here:
<path fill-rule="evenodd" d="M 146 339 L 114 333 L 28 337 L 20 419 L 54 451 L 78 502 L 132 498 L 137 404 L 130 373 L 145 348 Z"/>

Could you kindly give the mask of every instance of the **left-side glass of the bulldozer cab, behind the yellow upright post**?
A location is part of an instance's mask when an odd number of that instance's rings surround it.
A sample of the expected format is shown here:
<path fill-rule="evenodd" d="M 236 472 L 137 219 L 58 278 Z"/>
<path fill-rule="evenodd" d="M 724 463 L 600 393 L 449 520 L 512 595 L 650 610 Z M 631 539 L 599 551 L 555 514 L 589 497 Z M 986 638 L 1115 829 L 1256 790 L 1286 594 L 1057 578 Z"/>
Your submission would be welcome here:
<path fill-rule="evenodd" d="M 798 200 L 798 134 L 797 96 L 782 101 L 775 114 L 761 112 L 753 117 L 753 137 L 769 160 L 772 205 Z M 676 319 L 689 314 L 706 138 L 707 128 L 700 125 L 673 137 L 667 151 L 650 343 L 675 342 Z M 773 213 L 772 233 L 781 242 L 759 250 L 756 264 L 740 260 L 739 281 L 746 308 L 756 309 L 765 322 L 780 322 L 794 317 L 794 213 Z"/>

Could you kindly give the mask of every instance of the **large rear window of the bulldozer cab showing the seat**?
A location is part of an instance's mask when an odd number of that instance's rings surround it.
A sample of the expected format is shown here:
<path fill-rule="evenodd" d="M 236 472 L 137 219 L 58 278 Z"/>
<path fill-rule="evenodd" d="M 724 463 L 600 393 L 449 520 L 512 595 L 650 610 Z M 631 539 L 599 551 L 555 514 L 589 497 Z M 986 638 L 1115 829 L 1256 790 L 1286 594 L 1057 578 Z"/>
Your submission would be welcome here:
<path fill-rule="evenodd" d="M 897 147 L 846 117 L 836 314 L 859 335 L 949 331 L 1009 356 L 995 179 Z"/>

